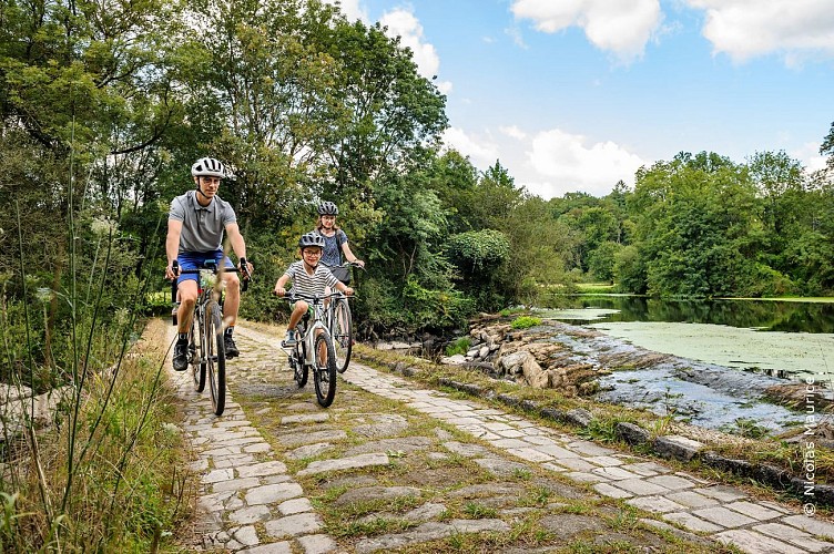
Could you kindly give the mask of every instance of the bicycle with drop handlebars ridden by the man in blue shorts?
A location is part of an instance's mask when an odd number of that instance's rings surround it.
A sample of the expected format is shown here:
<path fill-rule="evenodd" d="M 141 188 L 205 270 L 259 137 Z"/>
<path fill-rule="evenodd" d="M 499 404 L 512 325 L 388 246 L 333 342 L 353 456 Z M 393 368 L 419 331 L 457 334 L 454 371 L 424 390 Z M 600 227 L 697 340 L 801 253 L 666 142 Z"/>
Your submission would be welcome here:
<path fill-rule="evenodd" d="M 208 390 L 212 394 L 212 408 L 215 416 L 222 416 L 226 407 L 226 348 L 223 341 L 223 289 L 217 286 L 218 273 L 237 273 L 237 268 L 218 268 L 214 260 L 206 260 L 201 268 L 179 270 L 176 260 L 172 264 L 175 275 L 195 274 L 197 279 L 197 301 L 194 305 L 194 316 L 189 328 L 189 365 L 192 367 L 194 388 L 197 392 L 205 389 L 206 377 Z M 248 276 L 248 273 L 244 270 Z M 176 298 L 177 283 L 171 283 L 171 299 L 179 306 Z M 248 278 L 241 284 L 241 290 L 248 288 Z M 176 318 L 174 317 L 174 325 Z M 197 329 L 199 342 L 194 340 L 194 328 Z M 214 337 L 214 338 L 212 338 Z M 200 356 L 197 356 L 197 346 Z"/>

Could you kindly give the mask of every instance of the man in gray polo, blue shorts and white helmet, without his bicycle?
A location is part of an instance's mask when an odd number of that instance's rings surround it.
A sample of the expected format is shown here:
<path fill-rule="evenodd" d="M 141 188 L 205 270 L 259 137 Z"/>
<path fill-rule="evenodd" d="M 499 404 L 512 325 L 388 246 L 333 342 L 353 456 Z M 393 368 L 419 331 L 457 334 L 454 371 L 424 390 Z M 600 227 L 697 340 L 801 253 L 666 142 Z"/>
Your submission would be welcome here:
<path fill-rule="evenodd" d="M 174 346 L 174 370 L 185 371 L 189 366 L 189 329 L 197 299 L 197 275 L 174 273 L 174 260 L 179 269 L 197 269 L 206 261 L 233 268 L 234 265 L 223 254 L 223 233 L 228 234 L 237 259 L 237 269 L 251 275 L 254 267 L 246 261 L 246 243 L 237 227 L 237 217 L 232 206 L 217 196 L 221 179 L 226 176 L 225 166 L 213 157 L 202 157 L 191 166 L 191 175 L 196 185 L 193 191 L 175 197 L 171 202 L 167 218 L 165 253 L 167 267 L 165 278 L 177 279 L 180 309 L 177 310 L 177 340 Z M 241 281 L 235 273 L 223 273 L 226 285 L 224 324 L 227 326 L 223 342 L 226 358 L 236 357 L 240 351 L 233 334 L 241 305 Z"/>

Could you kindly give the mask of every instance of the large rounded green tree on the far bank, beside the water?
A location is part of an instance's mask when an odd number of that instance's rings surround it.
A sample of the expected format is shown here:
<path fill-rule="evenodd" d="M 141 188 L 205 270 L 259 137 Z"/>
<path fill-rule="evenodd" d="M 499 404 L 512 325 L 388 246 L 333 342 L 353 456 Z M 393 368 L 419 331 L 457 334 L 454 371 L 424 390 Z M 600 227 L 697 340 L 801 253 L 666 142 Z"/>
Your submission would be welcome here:
<path fill-rule="evenodd" d="M 704 152 L 659 162 L 638 172 L 632 213 L 650 294 L 756 295 L 772 285 L 761 281 L 762 206 L 745 166 Z"/>

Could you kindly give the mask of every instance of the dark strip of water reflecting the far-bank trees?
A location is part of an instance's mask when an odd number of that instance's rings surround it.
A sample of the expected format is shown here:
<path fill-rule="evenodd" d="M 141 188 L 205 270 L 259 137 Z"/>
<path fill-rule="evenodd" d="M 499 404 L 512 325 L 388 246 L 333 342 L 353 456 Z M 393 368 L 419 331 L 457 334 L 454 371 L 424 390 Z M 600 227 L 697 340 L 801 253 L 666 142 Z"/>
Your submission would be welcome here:
<path fill-rule="evenodd" d="M 667 300 L 637 296 L 589 295 L 555 296 L 547 302 L 551 309 L 617 310 L 587 320 L 548 317 L 573 324 L 591 321 L 669 321 L 713 324 L 766 331 L 834 334 L 834 304 L 780 300 Z"/>

